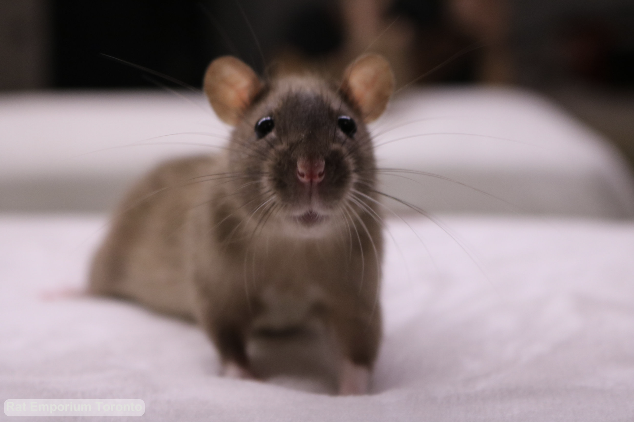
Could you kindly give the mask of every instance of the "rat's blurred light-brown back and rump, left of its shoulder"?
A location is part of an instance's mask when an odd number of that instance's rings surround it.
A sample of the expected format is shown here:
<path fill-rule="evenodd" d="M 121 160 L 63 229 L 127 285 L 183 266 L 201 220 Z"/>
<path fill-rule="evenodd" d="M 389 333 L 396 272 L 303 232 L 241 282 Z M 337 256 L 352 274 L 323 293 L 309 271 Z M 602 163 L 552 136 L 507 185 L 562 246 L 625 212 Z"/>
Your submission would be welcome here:
<path fill-rule="evenodd" d="M 94 257 L 89 291 L 135 300 L 150 309 L 193 318 L 186 277 L 186 219 L 204 205 L 219 173 L 218 157 L 172 160 L 139 181 L 122 201 Z"/>

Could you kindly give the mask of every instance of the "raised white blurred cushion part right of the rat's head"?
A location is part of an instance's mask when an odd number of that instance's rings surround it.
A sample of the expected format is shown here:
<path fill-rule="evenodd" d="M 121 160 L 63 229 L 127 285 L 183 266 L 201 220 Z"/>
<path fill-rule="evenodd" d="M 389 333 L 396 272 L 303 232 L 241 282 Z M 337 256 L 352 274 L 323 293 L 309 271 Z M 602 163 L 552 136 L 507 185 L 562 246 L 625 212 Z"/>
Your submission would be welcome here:
<path fill-rule="evenodd" d="M 381 167 L 440 176 L 382 179 L 385 191 L 425 210 L 634 216 L 634 182 L 621 157 L 537 94 L 481 87 L 410 91 L 376 129 Z"/>

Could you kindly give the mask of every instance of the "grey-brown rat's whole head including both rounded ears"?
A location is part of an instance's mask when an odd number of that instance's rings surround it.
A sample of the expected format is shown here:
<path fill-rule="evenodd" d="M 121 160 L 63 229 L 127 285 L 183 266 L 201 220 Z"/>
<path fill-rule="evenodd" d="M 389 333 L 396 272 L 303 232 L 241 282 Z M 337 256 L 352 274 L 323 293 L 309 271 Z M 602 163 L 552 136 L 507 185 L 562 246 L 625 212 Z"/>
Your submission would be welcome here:
<path fill-rule="evenodd" d="M 218 117 L 235 125 L 228 155 L 243 209 L 256 220 L 323 233 L 320 227 L 354 218 L 365 204 L 373 208 L 366 123 L 385 110 L 393 86 L 376 54 L 354 61 L 339 88 L 311 77 L 265 84 L 236 58 L 214 60 L 204 89 Z"/>

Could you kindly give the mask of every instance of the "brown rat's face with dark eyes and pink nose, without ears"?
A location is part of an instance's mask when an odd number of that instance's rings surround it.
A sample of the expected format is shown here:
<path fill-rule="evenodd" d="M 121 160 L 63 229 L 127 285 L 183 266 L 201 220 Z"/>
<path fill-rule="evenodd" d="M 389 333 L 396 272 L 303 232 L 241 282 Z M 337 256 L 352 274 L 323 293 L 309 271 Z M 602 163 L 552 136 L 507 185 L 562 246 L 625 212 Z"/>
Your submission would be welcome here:
<path fill-rule="evenodd" d="M 236 183 L 241 202 L 268 226 L 316 231 L 353 217 L 374 196 L 366 126 L 316 80 L 271 87 L 237 125 L 229 155 L 231 170 L 245 175 Z"/>

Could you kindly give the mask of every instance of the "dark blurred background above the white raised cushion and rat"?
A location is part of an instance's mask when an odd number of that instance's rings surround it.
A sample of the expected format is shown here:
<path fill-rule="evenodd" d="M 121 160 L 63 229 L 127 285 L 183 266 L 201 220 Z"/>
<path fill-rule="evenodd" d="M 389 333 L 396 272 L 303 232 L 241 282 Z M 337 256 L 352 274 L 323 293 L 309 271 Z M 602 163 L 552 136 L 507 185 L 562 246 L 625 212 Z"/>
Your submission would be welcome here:
<path fill-rule="evenodd" d="M 541 91 L 634 158 L 632 0 L 0 0 L 4 91 L 199 87 L 221 54 L 337 75 L 368 47 L 399 86 Z"/>

